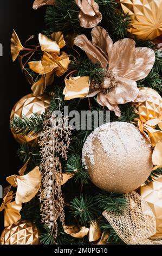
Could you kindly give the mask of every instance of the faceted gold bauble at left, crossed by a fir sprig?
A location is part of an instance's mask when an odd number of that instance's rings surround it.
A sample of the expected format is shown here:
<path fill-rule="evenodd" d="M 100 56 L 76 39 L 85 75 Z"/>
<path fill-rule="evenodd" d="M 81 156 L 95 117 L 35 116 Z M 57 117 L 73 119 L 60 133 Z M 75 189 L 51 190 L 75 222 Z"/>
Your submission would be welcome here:
<path fill-rule="evenodd" d="M 22 97 L 12 108 L 10 120 L 15 117 L 22 118 L 23 115 L 25 117 L 30 118 L 33 113 L 43 114 L 46 112 L 47 108 L 50 104 L 50 97 L 46 94 L 42 94 L 40 96 L 34 96 L 32 93 Z M 12 131 L 12 130 L 11 130 Z M 32 146 L 37 145 L 39 135 L 32 135 L 30 133 L 27 136 L 23 136 L 22 134 L 15 134 L 12 131 L 16 141 L 20 144 L 30 143 Z"/>

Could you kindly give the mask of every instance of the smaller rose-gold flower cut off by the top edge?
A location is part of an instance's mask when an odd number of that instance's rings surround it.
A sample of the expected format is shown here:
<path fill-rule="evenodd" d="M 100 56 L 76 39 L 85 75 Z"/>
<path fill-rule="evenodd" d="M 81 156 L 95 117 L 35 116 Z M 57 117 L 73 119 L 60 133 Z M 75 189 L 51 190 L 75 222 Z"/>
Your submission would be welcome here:
<path fill-rule="evenodd" d="M 102 14 L 94 0 L 75 0 L 75 2 L 81 10 L 79 13 L 81 27 L 94 28 L 101 22 Z"/>

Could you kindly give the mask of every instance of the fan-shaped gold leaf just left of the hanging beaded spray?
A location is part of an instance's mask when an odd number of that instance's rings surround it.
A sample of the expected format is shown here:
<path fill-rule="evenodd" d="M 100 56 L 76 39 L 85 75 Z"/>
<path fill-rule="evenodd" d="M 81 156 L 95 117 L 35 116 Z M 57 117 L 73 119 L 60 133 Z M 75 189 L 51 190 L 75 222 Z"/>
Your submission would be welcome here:
<path fill-rule="evenodd" d="M 23 176 L 17 176 L 16 204 L 29 202 L 37 194 L 41 185 L 41 173 L 37 167 Z"/>

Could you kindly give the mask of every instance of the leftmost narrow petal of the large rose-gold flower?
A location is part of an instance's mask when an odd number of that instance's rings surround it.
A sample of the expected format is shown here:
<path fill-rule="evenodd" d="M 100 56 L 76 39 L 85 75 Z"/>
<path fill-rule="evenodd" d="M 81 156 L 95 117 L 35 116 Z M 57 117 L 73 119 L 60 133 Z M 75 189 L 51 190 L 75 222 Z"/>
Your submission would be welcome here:
<path fill-rule="evenodd" d="M 92 63 L 100 62 L 102 68 L 107 68 L 108 61 L 101 51 L 96 48 L 91 41 L 89 41 L 86 35 L 78 35 L 74 40 L 74 44 L 80 47 L 86 52 L 88 58 Z"/>

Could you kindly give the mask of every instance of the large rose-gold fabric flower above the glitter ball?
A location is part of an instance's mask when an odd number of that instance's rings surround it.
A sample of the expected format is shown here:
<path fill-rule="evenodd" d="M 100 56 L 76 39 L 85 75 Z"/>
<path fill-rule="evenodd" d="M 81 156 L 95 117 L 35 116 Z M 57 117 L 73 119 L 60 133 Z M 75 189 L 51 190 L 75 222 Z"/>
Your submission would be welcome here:
<path fill-rule="evenodd" d="M 145 78 L 151 71 L 155 61 L 154 51 L 146 47 L 135 48 L 135 41 L 129 38 L 113 44 L 107 31 L 99 26 L 93 28 L 91 34 L 92 42 L 86 35 L 79 35 L 75 38 L 75 45 L 86 52 L 91 62 L 101 64 L 105 70 L 105 78 L 101 84 L 94 81 L 82 84 L 77 94 L 80 95 L 83 88 L 89 87 L 88 97 L 98 95 L 98 103 L 107 106 L 120 117 L 119 104 L 146 100 L 146 95 L 139 91 L 136 81 Z M 73 78 L 72 82 L 70 78 L 69 81 L 65 81 L 65 99 L 73 94 L 71 89 L 77 84 L 77 79 Z"/>

